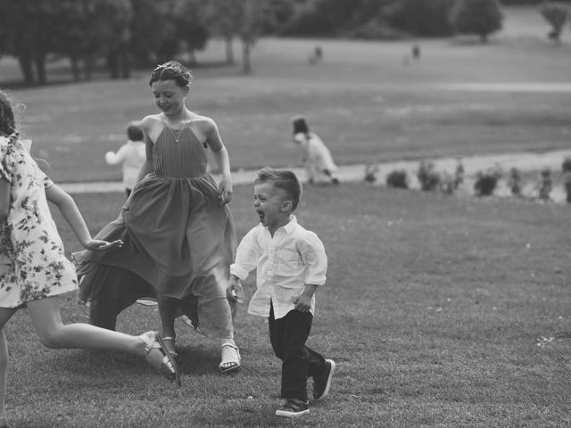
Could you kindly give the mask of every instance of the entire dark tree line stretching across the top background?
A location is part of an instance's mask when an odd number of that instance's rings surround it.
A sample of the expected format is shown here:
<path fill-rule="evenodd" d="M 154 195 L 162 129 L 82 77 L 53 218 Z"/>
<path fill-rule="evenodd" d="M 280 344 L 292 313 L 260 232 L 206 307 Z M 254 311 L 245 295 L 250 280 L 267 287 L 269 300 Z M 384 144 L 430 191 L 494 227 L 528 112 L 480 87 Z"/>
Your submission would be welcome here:
<path fill-rule="evenodd" d="M 565 0 L 559 3 L 563 4 Z M 571 1 L 571 0 L 567 0 Z M 538 4 L 540 0 L 503 0 Z M 46 62 L 68 58 L 75 80 L 104 59 L 112 78 L 131 67 L 190 58 L 211 37 L 242 46 L 244 72 L 258 37 L 396 38 L 501 29 L 499 0 L 0 0 L 0 56 L 15 57 L 27 84 L 45 84 Z"/>

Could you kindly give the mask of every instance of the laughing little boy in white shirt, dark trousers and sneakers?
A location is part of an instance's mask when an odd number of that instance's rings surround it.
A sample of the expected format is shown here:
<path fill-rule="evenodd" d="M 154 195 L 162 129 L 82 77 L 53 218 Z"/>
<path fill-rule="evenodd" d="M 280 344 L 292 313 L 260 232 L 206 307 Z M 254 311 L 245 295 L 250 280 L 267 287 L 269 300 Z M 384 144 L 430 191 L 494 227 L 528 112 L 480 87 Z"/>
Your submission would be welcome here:
<path fill-rule="evenodd" d="M 327 398 L 335 362 L 305 346 L 310 334 L 317 289 L 325 284 L 327 256 L 313 232 L 297 223 L 292 212 L 302 194 L 295 174 L 285 169 L 261 169 L 254 182 L 253 207 L 260 224 L 244 236 L 230 266 L 228 299 L 243 295 L 239 281 L 257 268 L 257 291 L 248 312 L 268 317 L 269 341 L 282 363 L 277 416 L 310 412 L 307 379 L 313 377 L 313 399 Z"/>

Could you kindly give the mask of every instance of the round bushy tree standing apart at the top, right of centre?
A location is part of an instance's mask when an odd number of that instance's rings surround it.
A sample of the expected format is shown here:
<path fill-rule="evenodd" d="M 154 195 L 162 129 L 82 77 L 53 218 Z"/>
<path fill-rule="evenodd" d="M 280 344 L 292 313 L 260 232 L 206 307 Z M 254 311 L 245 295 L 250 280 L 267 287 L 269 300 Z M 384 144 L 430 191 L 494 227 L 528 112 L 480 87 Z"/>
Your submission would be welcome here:
<path fill-rule="evenodd" d="M 498 0 L 458 0 L 451 10 L 451 23 L 461 34 L 476 34 L 485 43 L 501 29 L 503 14 Z"/>

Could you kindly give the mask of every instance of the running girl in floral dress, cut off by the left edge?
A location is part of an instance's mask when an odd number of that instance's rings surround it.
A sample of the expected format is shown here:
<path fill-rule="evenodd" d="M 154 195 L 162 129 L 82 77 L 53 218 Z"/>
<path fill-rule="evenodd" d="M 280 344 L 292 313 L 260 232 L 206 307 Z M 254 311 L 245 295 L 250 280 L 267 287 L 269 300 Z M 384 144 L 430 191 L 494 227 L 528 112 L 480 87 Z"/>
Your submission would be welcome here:
<path fill-rule="evenodd" d="M 12 106 L 0 92 L 0 427 L 8 426 L 4 410 L 8 369 L 4 325 L 23 307 L 48 348 L 122 350 L 145 356 L 162 374 L 178 378 L 175 363 L 157 333 L 131 336 L 94 325 L 63 325 L 56 296 L 76 290 L 78 281 L 73 265 L 64 256 L 48 201 L 58 207 L 88 250 L 105 251 L 122 244 L 91 238 L 73 199 L 54 185 L 30 156 L 29 147 L 16 132 Z"/>

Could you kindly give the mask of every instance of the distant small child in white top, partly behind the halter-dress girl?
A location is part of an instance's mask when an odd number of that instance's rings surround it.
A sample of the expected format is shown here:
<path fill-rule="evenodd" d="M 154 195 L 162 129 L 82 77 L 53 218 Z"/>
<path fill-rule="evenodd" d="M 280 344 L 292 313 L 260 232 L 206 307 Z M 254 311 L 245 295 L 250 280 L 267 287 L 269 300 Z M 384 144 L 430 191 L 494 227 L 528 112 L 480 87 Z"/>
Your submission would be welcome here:
<path fill-rule="evenodd" d="M 137 184 L 139 171 L 145 162 L 145 136 L 143 130 L 135 122 L 131 122 L 127 128 L 127 143 L 120 146 L 118 152 L 106 152 L 105 161 L 109 165 L 120 163 L 123 170 L 123 185 L 127 196 Z"/>

